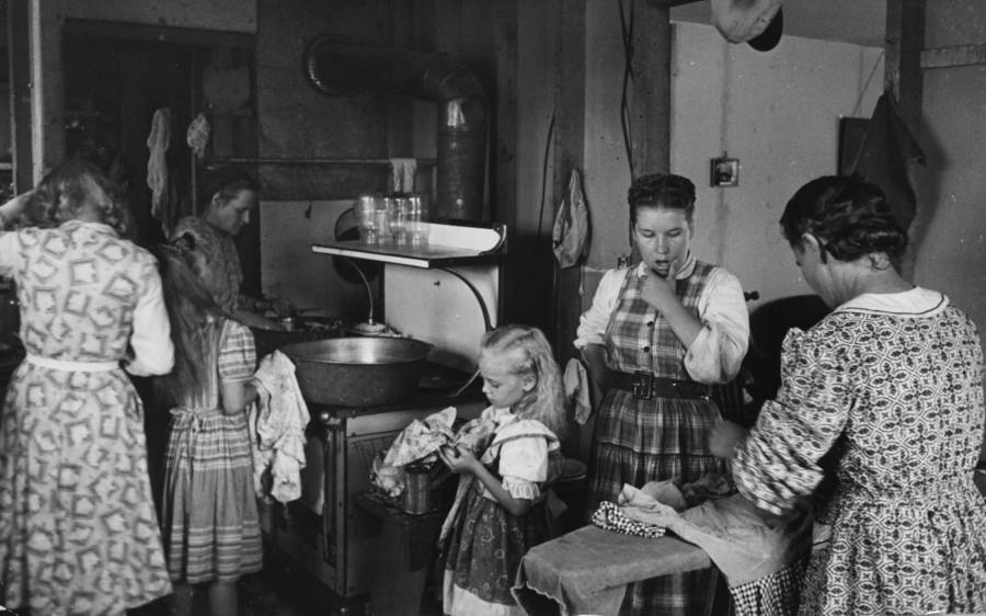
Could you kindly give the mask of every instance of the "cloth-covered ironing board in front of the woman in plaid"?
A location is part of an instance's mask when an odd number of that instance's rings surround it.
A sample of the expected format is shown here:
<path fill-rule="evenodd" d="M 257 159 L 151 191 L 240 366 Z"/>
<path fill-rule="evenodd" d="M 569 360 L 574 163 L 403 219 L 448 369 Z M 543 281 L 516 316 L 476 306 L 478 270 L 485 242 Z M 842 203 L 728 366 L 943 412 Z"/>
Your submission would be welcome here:
<path fill-rule="evenodd" d="M 677 537 L 634 537 L 583 526 L 531 548 L 514 593 L 528 614 L 617 614 L 627 584 L 712 567 L 702 548 Z"/>

